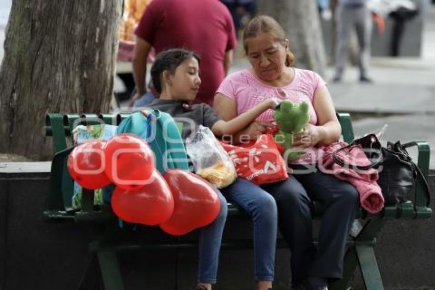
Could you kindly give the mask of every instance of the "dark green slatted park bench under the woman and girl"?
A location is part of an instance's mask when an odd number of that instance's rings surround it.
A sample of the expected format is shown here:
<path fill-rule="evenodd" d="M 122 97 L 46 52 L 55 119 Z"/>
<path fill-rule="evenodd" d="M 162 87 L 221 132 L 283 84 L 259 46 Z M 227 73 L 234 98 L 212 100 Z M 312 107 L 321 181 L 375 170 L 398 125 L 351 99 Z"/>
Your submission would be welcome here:
<path fill-rule="evenodd" d="M 123 250 L 154 250 L 156 248 L 194 248 L 197 240 L 181 236 L 164 234 L 156 227 L 149 227 L 150 234 L 147 239 L 137 240 L 134 234 L 121 229 L 117 218 L 108 205 L 94 205 L 94 191 L 84 190 L 81 198 L 81 209 L 72 209 L 73 180 L 66 169 L 69 153 L 72 151 L 71 131 L 81 117 L 82 125 L 95 125 L 107 123 L 118 125 L 128 114 L 48 114 L 46 117 L 45 135 L 51 136 L 53 141 L 54 157 L 51 164 L 50 191 L 48 193 L 47 209 L 44 216 L 51 222 L 76 222 L 82 224 L 98 225 L 104 229 L 102 235 L 93 237 L 90 250 L 95 253 L 94 259 L 98 260 L 101 276 L 106 290 L 122 290 L 123 282 L 117 260 L 117 251 Z M 354 139 L 352 120 L 349 114 L 339 113 L 339 121 L 342 127 L 343 139 L 351 142 Z M 418 144 L 418 166 L 427 178 L 429 171 L 429 146 L 427 142 Z M 344 258 L 343 279 L 330 285 L 331 289 L 345 289 L 355 269 L 358 267 L 366 289 L 382 290 L 381 275 L 376 262 L 374 246 L 376 236 L 382 229 L 387 219 L 427 219 L 432 216 L 432 210 L 427 207 L 427 197 L 421 180 L 417 180 L 415 196 L 412 200 L 402 203 L 400 206 L 387 206 L 378 214 L 368 214 L 359 209 L 357 218 L 361 224 L 361 230 L 355 237 L 349 237 L 348 248 Z M 322 215 L 320 204 L 313 204 L 313 218 Z M 246 219 L 246 213 L 235 204 L 228 203 L 227 224 L 232 219 Z M 223 248 L 252 248 L 252 240 L 228 239 L 223 237 Z M 278 237 L 277 247 L 287 247 L 282 237 Z M 91 271 L 91 270 L 90 270 Z M 88 271 L 89 272 L 89 271 Z"/>

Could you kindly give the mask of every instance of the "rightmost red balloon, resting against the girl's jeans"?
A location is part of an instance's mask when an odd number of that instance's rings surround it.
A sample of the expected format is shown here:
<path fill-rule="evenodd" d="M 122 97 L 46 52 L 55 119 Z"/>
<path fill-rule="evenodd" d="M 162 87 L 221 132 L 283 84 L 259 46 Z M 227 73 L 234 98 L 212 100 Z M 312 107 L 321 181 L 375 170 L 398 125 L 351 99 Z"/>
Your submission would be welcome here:
<path fill-rule="evenodd" d="M 204 179 L 190 172 L 171 169 L 164 176 L 175 206 L 172 216 L 159 224 L 171 235 L 184 235 L 211 223 L 221 211 L 221 201 Z"/>

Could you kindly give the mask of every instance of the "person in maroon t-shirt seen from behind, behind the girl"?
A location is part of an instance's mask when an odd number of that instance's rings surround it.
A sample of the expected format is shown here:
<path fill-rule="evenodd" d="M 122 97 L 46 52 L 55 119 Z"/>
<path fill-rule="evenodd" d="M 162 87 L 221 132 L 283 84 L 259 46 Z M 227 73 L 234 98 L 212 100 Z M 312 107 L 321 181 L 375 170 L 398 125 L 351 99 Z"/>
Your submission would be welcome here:
<path fill-rule="evenodd" d="M 137 92 L 130 103 L 146 93 L 146 58 L 154 47 L 156 53 L 168 48 L 198 53 L 202 59 L 202 84 L 195 103 L 212 105 L 237 45 L 231 14 L 224 4 L 218 0 L 154 0 L 147 6 L 135 34 L 132 62 Z"/>

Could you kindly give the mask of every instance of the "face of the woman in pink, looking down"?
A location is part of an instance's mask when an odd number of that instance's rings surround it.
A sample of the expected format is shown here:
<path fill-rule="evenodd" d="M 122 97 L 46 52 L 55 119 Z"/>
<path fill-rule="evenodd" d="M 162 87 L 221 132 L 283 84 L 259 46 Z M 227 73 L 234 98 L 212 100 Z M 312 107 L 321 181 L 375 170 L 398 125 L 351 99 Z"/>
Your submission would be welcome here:
<path fill-rule="evenodd" d="M 246 40 L 246 53 L 255 74 L 262 80 L 279 78 L 286 66 L 288 40 L 279 42 L 270 33 L 263 33 Z"/>

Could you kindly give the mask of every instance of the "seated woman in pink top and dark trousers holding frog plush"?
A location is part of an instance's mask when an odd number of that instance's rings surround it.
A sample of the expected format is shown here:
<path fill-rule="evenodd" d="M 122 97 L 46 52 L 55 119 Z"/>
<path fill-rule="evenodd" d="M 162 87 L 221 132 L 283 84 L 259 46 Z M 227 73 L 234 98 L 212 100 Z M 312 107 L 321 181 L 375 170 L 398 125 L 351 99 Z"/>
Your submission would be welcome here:
<path fill-rule="evenodd" d="M 274 197 L 278 207 L 278 226 L 292 252 L 293 287 L 328 289 L 328 281 L 342 277 L 344 248 L 358 204 L 357 191 L 350 183 L 315 167 L 320 146 L 338 140 L 341 132 L 331 96 L 318 74 L 292 67 L 289 39 L 273 18 L 252 18 L 243 44 L 252 67 L 224 79 L 216 92 L 214 109 L 224 120 L 230 120 L 266 98 L 310 104 L 309 124 L 293 142 L 306 154 L 290 164 L 293 175 L 288 180 L 262 188 Z M 273 112 L 266 111 L 233 140 L 237 142 L 241 135 L 255 139 L 272 126 L 272 121 Z M 312 243 L 312 200 L 325 205 L 317 249 Z"/>

